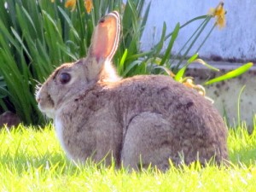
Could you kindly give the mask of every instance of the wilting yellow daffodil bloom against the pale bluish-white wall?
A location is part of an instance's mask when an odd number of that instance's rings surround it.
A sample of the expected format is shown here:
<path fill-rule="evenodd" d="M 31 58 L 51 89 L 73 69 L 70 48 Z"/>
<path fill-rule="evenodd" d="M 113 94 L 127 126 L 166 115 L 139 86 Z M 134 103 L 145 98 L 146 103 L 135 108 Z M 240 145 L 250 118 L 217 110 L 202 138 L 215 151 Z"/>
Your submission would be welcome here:
<path fill-rule="evenodd" d="M 215 25 L 218 26 L 219 29 L 222 29 L 226 26 L 226 10 L 224 9 L 224 3 L 218 3 L 217 8 L 211 8 L 208 15 L 212 15 L 216 18 Z"/>

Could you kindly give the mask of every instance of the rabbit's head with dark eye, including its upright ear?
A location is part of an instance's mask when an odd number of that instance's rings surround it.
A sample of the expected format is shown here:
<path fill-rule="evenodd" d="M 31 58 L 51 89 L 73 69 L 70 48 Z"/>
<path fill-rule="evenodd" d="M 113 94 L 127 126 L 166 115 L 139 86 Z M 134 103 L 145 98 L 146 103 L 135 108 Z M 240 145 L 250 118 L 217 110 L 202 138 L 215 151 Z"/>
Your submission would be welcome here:
<path fill-rule="evenodd" d="M 104 16 L 96 26 L 87 57 L 55 69 L 36 94 L 39 109 L 49 118 L 61 105 L 97 82 L 113 82 L 119 77 L 111 60 L 119 44 L 120 20 L 117 12 Z"/>

